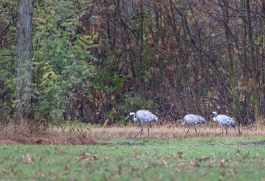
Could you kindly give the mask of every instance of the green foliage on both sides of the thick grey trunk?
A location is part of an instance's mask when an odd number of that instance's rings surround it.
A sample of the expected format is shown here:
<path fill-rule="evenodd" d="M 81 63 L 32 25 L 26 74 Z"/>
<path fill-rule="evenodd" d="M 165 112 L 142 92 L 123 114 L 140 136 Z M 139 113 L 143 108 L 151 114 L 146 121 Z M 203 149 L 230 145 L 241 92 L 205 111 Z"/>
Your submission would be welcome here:
<path fill-rule="evenodd" d="M 0 30 L 5 29 L 10 22 L 8 19 L 15 14 L 16 2 L 3 1 L 0 6 Z M 33 12 L 33 46 L 34 57 L 31 61 L 35 71 L 33 106 L 38 118 L 45 122 L 62 120 L 66 103 L 75 97 L 77 88 L 86 91 L 86 80 L 96 73 L 87 59 L 95 58 L 89 49 L 95 48 L 94 35 L 77 34 L 82 29 L 79 18 L 84 14 L 77 13 L 87 2 L 78 1 L 36 1 Z M 3 8 L 5 7 L 5 8 Z M 10 11 L 12 8 L 12 12 Z M 2 24 L 3 22 L 3 24 Z M 3 26 L 2 26 L 3 25 Z M 15 40 L 15 26 L 8 29 L 5 40 Z M 0 32 L 3 33 L 3 32 Z M 8 94 L 12 101 L 6 107 L 22 106 L 15 101 L 16 74 L 16 46 L 15 41 L 0 52 L 0 94 Z M 2 99 L 0 106 L 3 108 Z M 5 112 L 6 113 L 6 112 Z M 9 113 L 8 113 L 9 114 Z M 7 115 L 8 115 L 7 114 Z M 3 114 L 2 114 L 3 115 Z"/>

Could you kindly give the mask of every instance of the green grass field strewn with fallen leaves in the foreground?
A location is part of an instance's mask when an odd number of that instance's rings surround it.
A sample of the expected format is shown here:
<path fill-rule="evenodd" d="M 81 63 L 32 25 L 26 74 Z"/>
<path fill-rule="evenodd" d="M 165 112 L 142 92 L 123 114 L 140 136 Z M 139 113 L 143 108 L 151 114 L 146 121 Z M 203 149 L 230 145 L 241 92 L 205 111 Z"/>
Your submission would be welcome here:
<path fill-rule="evenodd" d="M 0 145 L 0 180 L 262 180 L 264 137 L 109 140 L 112 145 Z M 146 143 L 119 145 L 118 143 Z M 235 143 L 235 145 L 226 145 Z"/>

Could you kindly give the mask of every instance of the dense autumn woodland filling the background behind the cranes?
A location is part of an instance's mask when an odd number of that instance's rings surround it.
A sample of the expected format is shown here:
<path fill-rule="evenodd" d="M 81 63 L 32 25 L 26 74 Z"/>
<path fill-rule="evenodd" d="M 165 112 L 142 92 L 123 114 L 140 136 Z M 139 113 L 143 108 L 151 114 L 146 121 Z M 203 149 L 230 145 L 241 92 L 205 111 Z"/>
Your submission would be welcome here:
<path fill-rule="evenodd" d="M 36 0 L 32 24 L 24 1 L 0 2 L 2 124 L 265 115 L 265 0 Z"/>

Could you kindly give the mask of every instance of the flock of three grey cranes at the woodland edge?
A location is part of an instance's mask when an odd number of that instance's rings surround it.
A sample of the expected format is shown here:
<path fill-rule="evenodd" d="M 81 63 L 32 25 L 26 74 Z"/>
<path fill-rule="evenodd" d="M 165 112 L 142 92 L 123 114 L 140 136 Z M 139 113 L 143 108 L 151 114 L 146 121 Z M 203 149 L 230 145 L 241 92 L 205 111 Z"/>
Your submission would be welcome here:
<path fill-rule="evenodd" d="M 128 119 L 129 117 L 134 122 L 139 121 L 141 125 L 141 131 L 139 131 L 139 133 L 137 133 L 135 137 L 144 132 L 144 129 L 143 129 L 144 123 L 147 124 L 148 136 L 150 136 L 149 127 L 151 126 L 151 122 L 156 122 L 156 124 L 158 124 L 158 117 L 156 117 L 156 115 L 153 115 L 153 113 L 151 113 L 148 110 L 138 110 L 136 114 L 130 113 L 130 115 L 126 119 Z M 234 121 L 232 117 L 229 117 L 227 115 L 217 115 L 217 113 L 214 111 L 211 115 L 211 118 L 213 119 L 214 122 L 217 122 L 218 124 L 220 124 L 222 133 L 224 133 L 224 126 L 225 126 L 226 134 L 228 133 L 227 129 L 229 128 L 229 126 L 232 126 L 236 130 L 236 122 Z M 206 123 L 206 120 L 204 119 L 204 117 L 200 115 L 188 114 L 188 115 L 185 115 L 185 117 L 183 118 L 182 125 L 184 126 L 185 124 L 188 124 L 187 133 L 190 131 L 190 126 L 192 126 L 195 129 L 195 132 L 197 134 L 197 129 L 195 125 L 205 124 L 205 123 Z"/>

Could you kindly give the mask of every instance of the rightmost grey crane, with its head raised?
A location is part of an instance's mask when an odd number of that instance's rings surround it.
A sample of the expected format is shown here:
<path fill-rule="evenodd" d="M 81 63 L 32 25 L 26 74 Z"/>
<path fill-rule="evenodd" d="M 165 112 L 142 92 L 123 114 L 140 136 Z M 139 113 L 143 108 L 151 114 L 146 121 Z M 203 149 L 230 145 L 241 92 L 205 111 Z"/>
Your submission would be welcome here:
<path fill-rule="evenodd" d="M 228 133 L 227 129 L 229 128 L 229 126 L 232 126 L 234 130 L 236 131 L 236 122 L 234 121 L 232 117 L 229 117 L 227 115 L 217 115 L 215 111 L 213 111 L 211 117 L 213 118 L 214 122 L 218 122 L 220 124 L 222 133 L 224 133 L 224 126 L 225 126 L 226 134 Z"/>

